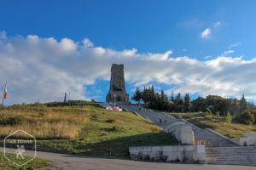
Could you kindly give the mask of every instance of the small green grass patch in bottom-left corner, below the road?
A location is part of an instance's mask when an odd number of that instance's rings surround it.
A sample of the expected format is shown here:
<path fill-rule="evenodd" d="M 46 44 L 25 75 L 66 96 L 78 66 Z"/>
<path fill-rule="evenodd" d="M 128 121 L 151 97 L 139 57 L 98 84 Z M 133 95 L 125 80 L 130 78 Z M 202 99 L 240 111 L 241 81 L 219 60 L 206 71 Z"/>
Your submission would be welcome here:
<path fill-rule="evenodd" d="M 8 154 L 9 157 L 11 157 L 12 160 L 15 160 L 15 155 L 14 154 Z M 30 157 L 25 156 L 25 159 L 29 160 Z M 16 160 L 15 162 L 19 162 L 19 160 Z M 22 160 L 22 162 L 24 162 L 24 160 Z M 20 163 L 22 163 L 20 162 Z M 36 168 L 43 168 L 43 167 L 48 167 L 49 166 L 49 162 L 48 161 L 44 161 L 42 159 L 38 159 L 35 158 L 34 160 L 26 163 L 24 166 L 22 167 L 17 167 L 15 166 L 14 163 L 7 161 L 4 156 L 3 156 L 3 152 L 0 152 L 0 169 L 4 169 L 4 170 L 10 170 L 10 169 L 27 169 L 27 170 L 32 170 L 32 169 L 36 169 Z"/>

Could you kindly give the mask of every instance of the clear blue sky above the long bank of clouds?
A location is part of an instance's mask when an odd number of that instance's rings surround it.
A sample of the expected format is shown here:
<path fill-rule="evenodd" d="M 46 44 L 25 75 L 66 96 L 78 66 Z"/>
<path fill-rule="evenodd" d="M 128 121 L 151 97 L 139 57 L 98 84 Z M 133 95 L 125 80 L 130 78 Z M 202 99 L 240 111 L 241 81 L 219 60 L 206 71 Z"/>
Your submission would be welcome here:
<path fill-rule="evenodd" d="M 163 53 L 204 59 L 230 43 L 242 42 L 237 54 L 256 53 L 255 1 L 2 1 L 1 29 L 10 36 L 89 37 L 105 48 L 137 48 L 139 53 Z M 200 32 L 220 21 L 211 41 Z M 183 53 L 183 48 L 188 50 Z"/>

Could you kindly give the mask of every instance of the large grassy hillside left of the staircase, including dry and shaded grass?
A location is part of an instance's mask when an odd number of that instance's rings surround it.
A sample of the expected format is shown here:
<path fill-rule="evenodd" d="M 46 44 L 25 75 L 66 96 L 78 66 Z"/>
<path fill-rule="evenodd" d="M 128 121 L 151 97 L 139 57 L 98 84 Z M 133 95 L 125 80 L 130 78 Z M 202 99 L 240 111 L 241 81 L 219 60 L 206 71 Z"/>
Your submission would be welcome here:
<path fill-rule="evenodd" d="M 17 129 L 38 139 L 39 150 L 127 158 L 128 147 L 177 144 L 160 127 L 130 112 L 86 105 L 16 105 L 0 111 L 0 136 Z"/>

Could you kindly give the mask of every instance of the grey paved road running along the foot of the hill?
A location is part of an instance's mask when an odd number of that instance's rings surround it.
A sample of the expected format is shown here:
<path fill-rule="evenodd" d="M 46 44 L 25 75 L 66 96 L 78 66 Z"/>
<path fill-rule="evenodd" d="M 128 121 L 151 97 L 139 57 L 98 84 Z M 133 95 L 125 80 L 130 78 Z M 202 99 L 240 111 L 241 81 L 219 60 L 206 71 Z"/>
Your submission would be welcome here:
<path fill-rule="evenodd" d="M 3 148 L 0 147 L 0 151 Z M 15 151 L 15 150 L 11 150 Z M 27 155 L 33 154 L 26 150 Z M 145 161 L 130 161 L 119 159 L 103 159 L 85 156 L 73 156 L 49 152 L 37 152 L 37 157 L 52 162 L 48 170 L 255 170 L 255 167 L 225 166 L 225 165 L 197 165 L 197 164 L 174 164 Z"/>

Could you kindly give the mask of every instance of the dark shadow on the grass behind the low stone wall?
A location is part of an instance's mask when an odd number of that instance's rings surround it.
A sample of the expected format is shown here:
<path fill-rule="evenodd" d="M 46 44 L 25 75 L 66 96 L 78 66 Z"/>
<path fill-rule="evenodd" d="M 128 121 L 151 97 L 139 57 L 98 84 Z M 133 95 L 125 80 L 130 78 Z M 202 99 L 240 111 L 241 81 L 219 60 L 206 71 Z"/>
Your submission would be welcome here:
<path fill-rule="evenodd" d="M 129 158 L 130 146 L 173 144 L 177 144 L 177 140 L 170 133 L 143 133 L 92 144 L 84 144 L 81 141 L 74 149 L 79 150 L 79 155 L 84 156 Z"/>

